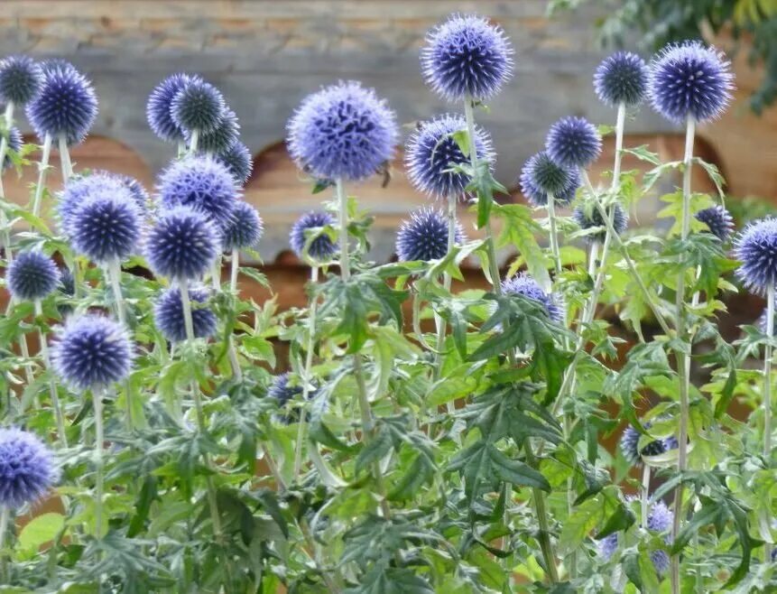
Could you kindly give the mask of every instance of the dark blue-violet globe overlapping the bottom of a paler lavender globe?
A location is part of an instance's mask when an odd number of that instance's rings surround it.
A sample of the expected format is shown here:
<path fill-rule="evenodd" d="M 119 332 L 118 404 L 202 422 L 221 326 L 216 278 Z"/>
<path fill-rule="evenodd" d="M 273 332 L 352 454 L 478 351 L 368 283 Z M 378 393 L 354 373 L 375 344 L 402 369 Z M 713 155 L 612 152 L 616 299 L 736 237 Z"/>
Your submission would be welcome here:
<path fill-rule="evenodd" d="M 148 263 L 156 274 L 180 282 L 202 276 L 216 261 L 220 239 L 216 227 L 188 207 L 167 210 L 146 238 Z"/>

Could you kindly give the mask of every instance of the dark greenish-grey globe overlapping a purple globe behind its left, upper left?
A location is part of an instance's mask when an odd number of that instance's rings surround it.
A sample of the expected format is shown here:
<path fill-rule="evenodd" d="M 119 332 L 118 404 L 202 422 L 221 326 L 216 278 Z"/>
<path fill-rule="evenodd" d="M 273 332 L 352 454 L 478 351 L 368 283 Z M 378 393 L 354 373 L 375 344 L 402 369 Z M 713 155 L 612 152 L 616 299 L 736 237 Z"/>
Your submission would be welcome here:
<path fill-rule="evenodd" d="M 181 130 L 207 135 L 224 119 L 227 104 L 216 87 L 202 79 L 190 79 L 172 97 L 172 121 Z"/>

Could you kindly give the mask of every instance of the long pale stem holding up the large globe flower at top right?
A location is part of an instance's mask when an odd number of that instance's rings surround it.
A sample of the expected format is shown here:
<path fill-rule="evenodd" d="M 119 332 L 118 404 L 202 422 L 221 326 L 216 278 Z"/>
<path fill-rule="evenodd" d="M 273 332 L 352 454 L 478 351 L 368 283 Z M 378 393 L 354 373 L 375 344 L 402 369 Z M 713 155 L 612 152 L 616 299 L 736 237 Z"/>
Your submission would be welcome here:
<path fill-rule="evenodd" d="M 690 173 L 693 167 L 693 137 L 696 132 L 696 121 L 689 117 L 685 130 L 685 156 L 682 172 L 682 219 L 680 220 L 680 238 L 683 242 L 688 239 L 690 230 Z M 681 270 L 677 277 L 677 295 L 675 299 L 675 327 L 677 337 L 686 339 L 685 328 L 685 270 Z M 677 471 L 682 474 L 688 468 L 688 422 L 689 422 L 689 366 L 690 345 L 688 352 L 676 352 L 677 375 L 680 378 L 680 431 L 678 435 Z M 674 518 L 671 524 L 671 541 L 674 542 L 680 534 L 680 520 L 682 516 L 682 483 L 674 492 Z M 680 594 L 680 553 L 671 557 L 671 591 L 672 594 Z"/>

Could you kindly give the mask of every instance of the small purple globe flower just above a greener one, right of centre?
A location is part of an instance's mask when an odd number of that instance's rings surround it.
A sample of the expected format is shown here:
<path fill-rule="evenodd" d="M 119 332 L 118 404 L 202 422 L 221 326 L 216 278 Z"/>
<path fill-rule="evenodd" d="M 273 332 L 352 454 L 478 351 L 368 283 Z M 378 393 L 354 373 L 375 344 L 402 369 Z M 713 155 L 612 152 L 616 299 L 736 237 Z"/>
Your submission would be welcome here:
<path fill-rule="evenodd" d="M 602 137 L 585 117 L 562 117 L 550 126 L 545 149 L 561 167 L 587 167 L 602 152 Z"/>

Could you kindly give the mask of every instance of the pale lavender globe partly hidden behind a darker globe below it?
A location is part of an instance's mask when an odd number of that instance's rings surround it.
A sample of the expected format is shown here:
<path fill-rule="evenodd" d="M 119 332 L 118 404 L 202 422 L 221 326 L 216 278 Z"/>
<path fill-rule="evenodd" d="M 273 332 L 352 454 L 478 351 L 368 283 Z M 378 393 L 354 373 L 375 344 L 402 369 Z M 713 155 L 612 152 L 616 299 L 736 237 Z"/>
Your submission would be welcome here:
<path fill-rule="evenodd" d="M 232 223 L 239 193 L 227 167 L 205 155 L 172 162 L 162 172 L 157 190 L 163 208 L 188 206 L 220 229 Z"/>

